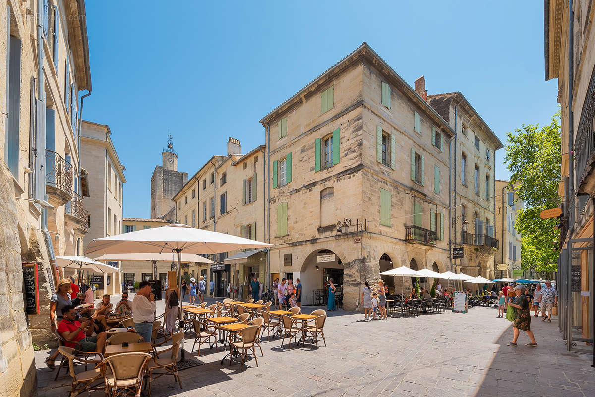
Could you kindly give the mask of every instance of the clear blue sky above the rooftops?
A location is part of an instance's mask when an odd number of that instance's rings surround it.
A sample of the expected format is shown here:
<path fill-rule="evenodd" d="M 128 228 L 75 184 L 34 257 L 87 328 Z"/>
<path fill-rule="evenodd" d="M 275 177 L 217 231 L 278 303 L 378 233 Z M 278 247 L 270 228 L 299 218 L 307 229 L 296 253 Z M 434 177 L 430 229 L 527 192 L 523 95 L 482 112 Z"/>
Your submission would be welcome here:
<path fill-rule="evenodd" d="M 126 165 L 124 216 L 149 217 L 168 132 L 190 176 L 227 137 L 264 143 L 258 123 L 368 42 L 409 85 L 461 91 L 505 143 L 548 124 L 542 1 L 86 2 L 93 92 L 83 118 L 108 124 Z M 496 177 L 505 179 L 504 149 Z"/>

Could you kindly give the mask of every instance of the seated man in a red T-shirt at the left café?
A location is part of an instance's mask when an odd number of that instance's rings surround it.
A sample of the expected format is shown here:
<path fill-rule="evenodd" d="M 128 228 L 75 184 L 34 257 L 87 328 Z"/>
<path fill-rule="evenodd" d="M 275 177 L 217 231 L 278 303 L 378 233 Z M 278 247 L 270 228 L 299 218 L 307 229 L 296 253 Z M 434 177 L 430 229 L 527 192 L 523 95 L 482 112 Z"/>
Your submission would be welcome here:
<path fill-rule="evenodd" d="M 98 333 L 97 336 L 92 336 L 93 323 L 91 320 L 83 321 L 81 323 L 77 320 L 77 312 L 72 305 L 64 307 L 62 311 L 64 320 L 58 325 L 58 333 L 67 341 L 65 344 L 69 348 L 77 348 L 76 343 L 79 342 L 78 349 L 83 352 L 98 352 L 104 351 L 105 332 Z"/>

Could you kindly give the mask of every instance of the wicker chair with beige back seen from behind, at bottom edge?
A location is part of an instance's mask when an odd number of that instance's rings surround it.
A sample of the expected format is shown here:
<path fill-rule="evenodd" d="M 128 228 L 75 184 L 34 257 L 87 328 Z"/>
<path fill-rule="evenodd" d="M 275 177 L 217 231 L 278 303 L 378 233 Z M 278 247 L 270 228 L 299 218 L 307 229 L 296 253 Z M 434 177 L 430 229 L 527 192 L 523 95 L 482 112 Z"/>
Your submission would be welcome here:
<path fill-rule="evenodd" d="M 110 397 L 140 395 L 143 374 L 151 355 L 148 353 L 123 353 L 104 358 L 103 364 L 111 373 L 105 373 L 105 392 Z"/>

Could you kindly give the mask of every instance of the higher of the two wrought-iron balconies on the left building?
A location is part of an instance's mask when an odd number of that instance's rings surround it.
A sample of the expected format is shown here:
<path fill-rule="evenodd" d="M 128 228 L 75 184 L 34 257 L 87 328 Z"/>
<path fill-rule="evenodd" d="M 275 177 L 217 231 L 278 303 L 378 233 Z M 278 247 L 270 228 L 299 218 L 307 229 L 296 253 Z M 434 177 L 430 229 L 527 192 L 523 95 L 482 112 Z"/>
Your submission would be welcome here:
<path fill-rule="evenodd" d="M 73 165 L 51 150 L 45 151 L 45 190 L 49 204 L 61 207 L 72 197 Z"/>

